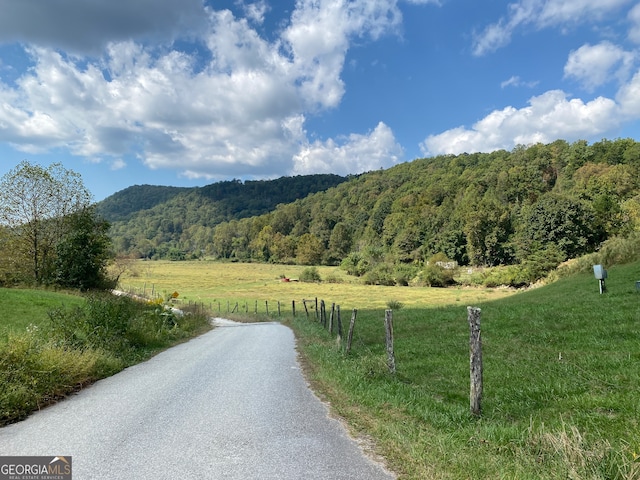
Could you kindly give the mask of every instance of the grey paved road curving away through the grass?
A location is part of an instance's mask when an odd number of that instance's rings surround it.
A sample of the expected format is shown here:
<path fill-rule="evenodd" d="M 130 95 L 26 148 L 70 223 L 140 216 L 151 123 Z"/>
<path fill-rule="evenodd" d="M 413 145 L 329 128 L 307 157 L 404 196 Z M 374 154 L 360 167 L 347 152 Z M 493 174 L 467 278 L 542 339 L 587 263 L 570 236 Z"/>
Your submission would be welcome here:
<path fill-rule="evenodd" d="M 0 455 L 84 479 L 391 479 L 307 387 L 292 332 L 219 326 L 0 428 Z"/>

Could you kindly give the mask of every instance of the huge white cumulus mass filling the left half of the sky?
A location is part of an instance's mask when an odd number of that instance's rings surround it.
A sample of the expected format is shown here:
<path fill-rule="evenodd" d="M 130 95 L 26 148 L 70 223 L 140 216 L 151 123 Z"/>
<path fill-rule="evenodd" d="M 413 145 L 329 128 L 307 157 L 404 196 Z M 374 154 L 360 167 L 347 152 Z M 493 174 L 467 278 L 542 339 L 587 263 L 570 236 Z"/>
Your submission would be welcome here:
<path fill-rule="evenodd" d="M 109 20 L 111 28 L 98 25 L 96 31 L 88 26 L 74 30 L 71 20 L 41 32 L 35 27 L 4 29 L 6 11 L 14 20 L 26 18 L 35 1 L 0 0 L 0 5 L 11 6 L 3 9 L 0 41 L 24 35 L 32 59 L 32 68 L 15 84 L 0 81 L 0 141 L 27 152 L 67 149 L 109 160 L 117 168 L 124 167 L 123 157 L 134 155 L 152 169 L 180 169 L 191 178 L 311 173 L 313 166 L 324 168 L 329 161 L 320 160 L 327 149 L 342 155 L 344 163 L 332 165 L 344 173 L 397 160 L 399 147 L 384 124 L 366 135 L 314 144 L 304 132 L 307 115 L 341 101 L 341 73 L 351 41 L 396 30 L 401 16 L 393 0 L 300 0 L 281 37 L 272 41 L 261 37 L 248 19 L 229 10 L 205 11 L 195 0 L 122 5 L 60 0 L 56 5 L 71 11 L 71 3 L 78 7 L 74 21 L 91 25 L 94 17 L 127 19 L 117 28 L 118 22 Z M 206 29 L 192 50 L 120 40 L 137 33 L 150 38 L 163 27 L 171 30 L 191 21 L 196 4 Z M 141 5 L 151 18 L 138 24 Z M 266 4 L 248 8 L 251 22 L 259 23 Z M 43 4 L 34 22 L 45 22 L 47 12 L 52 24 L 62 16 Z M 65 25 L 74 35 L 66 36 Z M 74 52 L 101 48 L 105 42 L 106 47 L 95 58 L 37 46 L 40 41 Z"/>

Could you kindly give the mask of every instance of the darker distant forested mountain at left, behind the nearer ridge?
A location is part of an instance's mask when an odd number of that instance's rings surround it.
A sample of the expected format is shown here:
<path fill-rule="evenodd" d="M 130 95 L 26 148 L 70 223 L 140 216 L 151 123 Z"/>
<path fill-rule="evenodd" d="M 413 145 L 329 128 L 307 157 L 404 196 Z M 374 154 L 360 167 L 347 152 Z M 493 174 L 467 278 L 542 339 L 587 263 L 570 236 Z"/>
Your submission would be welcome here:
<path fill-rule="evenodd" d="M 119 254 L 163 258 L 171 253 L 184 258 L 204 251 L 212 228 L 221 222 L 267 213 L 280 203 L 346 180 L 338 175 L 301 175 L 193 188 L 136 185 L 104 199 L 96 209 L 111 222 Z"/>

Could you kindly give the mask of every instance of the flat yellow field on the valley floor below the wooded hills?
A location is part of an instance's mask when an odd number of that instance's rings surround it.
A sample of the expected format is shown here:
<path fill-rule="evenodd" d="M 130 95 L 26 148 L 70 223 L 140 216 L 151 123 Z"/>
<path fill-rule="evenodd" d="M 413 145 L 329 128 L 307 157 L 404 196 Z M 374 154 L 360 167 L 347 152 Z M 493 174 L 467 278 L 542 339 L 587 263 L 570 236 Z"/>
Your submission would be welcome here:
<path fill-rule="evenodd" d="M 209 261 L 138 261 L 133 271 L 123 275 L 120 288 L 167 296 L 174 291 L 183 301 L 207 303 L 280 301 L 291 308 L 291 301 L 318 297 L 342 309 L 384 308 L 389 301 L 405 306 L 433 307 L 467 305 L 513 295 L 510 289 L 421 288 L 361 285 L 358 279 L 338 267 L 317 267 L 321 283 L 297 282 L 307 267 L 258 263 L 220 263 Z M 282 281 L 282 277 L 290 282 Z M 339 282 L 339 283 L 336 283 Z"/>

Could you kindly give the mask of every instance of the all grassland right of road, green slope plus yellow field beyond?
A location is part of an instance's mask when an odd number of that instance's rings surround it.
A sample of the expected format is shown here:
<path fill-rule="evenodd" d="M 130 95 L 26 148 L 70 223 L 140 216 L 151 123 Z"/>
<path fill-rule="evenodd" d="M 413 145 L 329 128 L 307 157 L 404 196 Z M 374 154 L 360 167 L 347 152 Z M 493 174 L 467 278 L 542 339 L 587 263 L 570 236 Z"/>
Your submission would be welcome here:
<path fill-rule="evenodd" d="M 285 283 L 301 269 L 273 265 L 138 268 L 124 283 L 204 303 L 318 296 L 358 308 L 349 355 L 313 316 L 282 321 L 316 392 L 402 479 L 640 479 L 638 263 L 611 268 L 604 295 L 587 274 L 515 293 Z M 384 347 L 390 300 L 404 304 L 394 311 L 395 375 Z M 482 308 L 479 418 L 469 411 L 467 305 Z"/>

